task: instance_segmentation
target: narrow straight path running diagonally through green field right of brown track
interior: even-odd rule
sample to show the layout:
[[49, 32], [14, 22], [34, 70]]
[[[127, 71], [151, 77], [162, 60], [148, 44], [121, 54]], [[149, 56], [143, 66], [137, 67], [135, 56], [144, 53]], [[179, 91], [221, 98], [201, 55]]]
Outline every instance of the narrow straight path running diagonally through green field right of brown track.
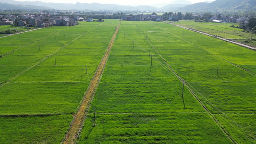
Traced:
[[[135, 25], [136, 26], [136, 25]], [[137, 27], [137, 26], [136, 26]], [[159, 27], [158, 27], [159, 28]], [[145, 36], [140, 29], [137, 27], [137, 29], [139, 30], [139, 32]], [[161, 29], [161, 28], [160, 28]], [[165, 31], [165, 30], [164, 30]], [[168, 32], [170, 33], [170, 32]], [[170, 33], [171, 34], [171, 33]], [[173, 35], [173, 34], [172, 34]], [[176, 36], [176, 35], [173, 35]], [[178, 37], [178, 36], [177, 36]], [[163, 56], [158, 52], [158, 50], [154, 47], [154, 45], [148, 40], [146, 39], [147, 42], [152, 46], [152, 48], [155, 49], [155, 51], [158, 53], [158, 55], [161, 57], [161, 59], [167, 64], [167, 66], [171, 69], [171, 71], [177, 76], [177, 78], [184, 83], [184, 85], [187, 87], [187, 89], [191, 92], [191, 94], [193, 94], [193, 96], [195, 97], [195, 99], [201, 104], [201, 106], [207, 111], [207, 113], [209, 114], [209, 116], [216, 122], [216, 124], [219, 126], [219, 128], [222, 130], [222, 132], [224, 132], [227, 137], [234, 143], [236, 144], [236, 142], [232, 139], [231, 135], [225, 130], [225, 128], [218, 122], [218, 120], [216, 119], [216, 117], [207, 109], [207, 107], [204, 105], [204, 103], [196, 96], [195, 92], [189, 87], [188, 84], [186, 84], [184, 82], [184, 79], [182, 77], [180, 77], [169, 65], [169, 63], [163, 58]]]

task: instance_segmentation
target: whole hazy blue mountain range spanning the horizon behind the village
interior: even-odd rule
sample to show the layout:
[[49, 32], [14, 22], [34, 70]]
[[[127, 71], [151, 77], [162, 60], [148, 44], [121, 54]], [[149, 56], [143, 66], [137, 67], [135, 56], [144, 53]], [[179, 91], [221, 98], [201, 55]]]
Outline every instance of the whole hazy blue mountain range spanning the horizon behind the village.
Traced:
[[[152, 6], [127, 6], [100, 3], [53, 3], [41, 1], [1, 0], [2, 9], [62, 9], [62, 10], [106, 10], [106, 11], [165, 11], [165, 12], [211, 12], [232, 13], [256, 11], [256, 0], [215, 0], [211, 3], [199, 2], [191, 4], [187, 0], [176, 0], [159, 9]], [[8, 3], [8, 4], [7, 4]]]

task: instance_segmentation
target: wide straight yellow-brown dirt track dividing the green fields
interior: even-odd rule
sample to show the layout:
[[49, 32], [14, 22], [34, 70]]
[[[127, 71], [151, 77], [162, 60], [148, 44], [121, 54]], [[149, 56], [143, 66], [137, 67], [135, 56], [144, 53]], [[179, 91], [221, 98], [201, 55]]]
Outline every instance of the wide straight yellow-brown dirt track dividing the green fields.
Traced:
[[107, 63], [109, 55], [110, 55], [111, 48], [114, 44], [114, 41], [115, 41], [115, 38], [116, 38], [116, 35], [119, 30], [119, 26], [120, 26], [121, 22], [122, 21], [120, 21], [120, 23], [118, 24], [118, 26], [110, 40], [108, 48], [107, 48], [105, 54], [103, 55], [102, 60], [100, 61], [99, 65], [98, 65], [95, 75], [93, 76], [91, 83], [86, 90], [84, 99], [80, 105], [80, 108], [78, 109], [77, 114], [74, 116], [74, 119], [71, 123], [71, 127], [70, 127], [69, 131], [65, 135], [63, 144], [73, 144], [77, 140], [78, 134], [81, 132], [81, 129], [82, 129], [82, 126], [83, 126], [83, 123], [85, 120], [85, 116], [87, 114], [86, 108], [90, 107], [90, 103], [95, 95], [96, 89], [98, 87], [98, 83], [99, 83], [101, 76], [103, 74], [103, 71], [105, 69], [106, 63]]

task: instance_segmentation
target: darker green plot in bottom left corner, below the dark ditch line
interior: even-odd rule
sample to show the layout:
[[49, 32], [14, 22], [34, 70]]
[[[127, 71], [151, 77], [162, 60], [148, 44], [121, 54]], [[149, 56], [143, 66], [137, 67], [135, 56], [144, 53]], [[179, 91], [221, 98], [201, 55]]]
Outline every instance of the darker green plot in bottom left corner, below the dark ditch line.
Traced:
[[0, 117], [0, 144], [60, 144], [72, 115]]

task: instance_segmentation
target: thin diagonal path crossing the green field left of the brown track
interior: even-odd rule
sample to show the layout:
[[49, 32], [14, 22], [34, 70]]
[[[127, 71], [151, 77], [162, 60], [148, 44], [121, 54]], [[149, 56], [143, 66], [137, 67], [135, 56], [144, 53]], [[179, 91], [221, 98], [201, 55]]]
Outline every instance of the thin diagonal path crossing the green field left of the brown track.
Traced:
[[[90, 30], [89, 30], [89, 31], [90, 31]], [[89, 31], [88, 31], [88, 32], [89, 32]], [[62, 46], [61, 48], [55, 50], [53, 53], [49, 54], [48, 56], [46, 56], [46, 57], [43, 58], [42, 60], [39, 60], [36, 64], [34, 64], [34, 65], [32, 65], [32, 66], [26, 68], [26, 69], [25, 69], [24, 71], [22, 71], [22, 72], [19, 72], [18, 74], [16, 74], [16, 75], [13, 76], [12, 78], [10, 78], [8, 81], [6, 81], [6, 82], [0, 84], [0, 88], [1, 88], [3, 85], [5, 85], [5, 84], [10, 83], [13, 79], [15, 79], [15, 78], [18, 77], [19, 75], [23, 74], [24, 72], [27, 72], [28, 70], [34, 68], [35, 66], [37, 66], [37, 65], [38, 65], [39, 63], [41, 63], [42, 61], [46, 60], [46, 59], [49, 58], [50, 56], [52, 56], [52, 55], [54, 55], [55, 53], [57, 53], [58, 51], [60, 51], [62, 48], [65, 48], [66, 46], [68, 46], [69, 44], [71, 44], [73, 41], [75, 41], [76, 39], [78, 39], [78, 38], [80, 38], [81, 36], [84, 36], [84, 35], [85, 35], [85, 34], [82, 34], [82, 35], [76, 37], [75, 39], [73, 39], [72, 41], [66, 43], [66, 44], [65, 44], [64, 46]]]

